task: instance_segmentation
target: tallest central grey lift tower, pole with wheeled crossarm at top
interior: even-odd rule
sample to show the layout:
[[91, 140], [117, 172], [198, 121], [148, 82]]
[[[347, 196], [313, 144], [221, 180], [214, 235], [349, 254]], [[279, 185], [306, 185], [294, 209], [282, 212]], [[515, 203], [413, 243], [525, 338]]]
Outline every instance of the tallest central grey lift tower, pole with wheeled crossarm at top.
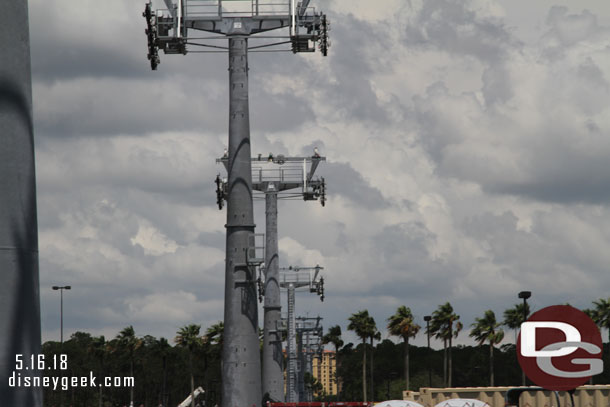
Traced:
[[[292, 52], [313, 52], [317, 44], [327, 54], [326, 15], [309, 7], [309, 0], [164, 0], [166, 10], [146, 4], [148, 59], [154, 70], [158, 50], [166, 54], [187, 52], [229, 53], [229, 148], [227, 239], [225, 269], [224, 346], [222, 350], [223, 407], [253, 407], [261, 404], [260, 358], [256, 283], [251, 253], [254, 246], [254, 216], [250, 161], [248, 106], [248, 49], [282, 47]], [[288, 35], [256, 34], [285, 28]], [[215, 34], [192, 36], [192, 30]], [[202, 41], [229, 39], [228, 47]], [[249, 39], [263, 43], [248, 47]], [[283, 41], [276, 41], [281, 39]], [[272, 42], [276, 41], [276, 42]], [[191, 51], [187, 46], [209, 48]], [[200, 48], [200, 49], [201, 49]], [[257, 49], [255, 49], [257, 48]]]

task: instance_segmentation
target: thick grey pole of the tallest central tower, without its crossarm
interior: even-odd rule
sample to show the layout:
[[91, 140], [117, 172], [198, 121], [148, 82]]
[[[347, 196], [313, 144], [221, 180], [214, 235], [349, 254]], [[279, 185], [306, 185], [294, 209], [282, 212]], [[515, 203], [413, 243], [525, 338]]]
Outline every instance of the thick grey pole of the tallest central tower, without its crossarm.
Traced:
[[256, 278], [248, 248], [254, 240], [248, 40], [229, 38], [229, 163], [225, 270], [222, 406], [261, 405]]

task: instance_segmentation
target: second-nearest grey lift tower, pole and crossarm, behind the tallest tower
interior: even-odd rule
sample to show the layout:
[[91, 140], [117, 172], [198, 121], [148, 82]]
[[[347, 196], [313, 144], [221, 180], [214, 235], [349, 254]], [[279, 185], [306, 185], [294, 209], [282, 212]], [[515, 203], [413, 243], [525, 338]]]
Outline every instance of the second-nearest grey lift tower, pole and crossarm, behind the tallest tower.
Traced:
[[[277, 200], [303, 199], [319, 200], [326, 203], [326, 182], [315, 178], [314, 174], [321, 161], [317, 148], [311, 157], [285, 157], [284, 155], [259, 155], [252, 158], [252, 189], [265, 196], [265, 257], [263, 323], [263, 397], [274, 401], [284, 401], [284, 369], [282, 366], [282, 338], [276, 327], [280, 320], [281, 303], [279, 287], [279, 254], [277, 232]], [[216, 160], [228, 167], [227, 157]], [[222, 209], [226, 198], [227, 183], [220, 176], [216, 178], [218, 207]], [[262, 297], [262, 296], [261, 296]]]

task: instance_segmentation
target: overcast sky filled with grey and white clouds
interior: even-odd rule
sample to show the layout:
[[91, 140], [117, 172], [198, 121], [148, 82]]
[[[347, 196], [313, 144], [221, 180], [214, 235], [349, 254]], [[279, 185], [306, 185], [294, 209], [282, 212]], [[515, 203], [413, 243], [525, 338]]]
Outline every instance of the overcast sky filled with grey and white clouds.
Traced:
[[[58, 284], [65, 336], [223, 317], [227, 55], [161, 53], [152, 72], [144, 3], [29, 1], [44, 341]], [[400, 305], [424, 325], [450, 301], [469, 328], [521, 290], [534, 309], [606, 298], [610, 2], [314, 3], [327, 58], [249, 64], [252, 153], [328, 160], [326, 207], [279, 205], [280, 265], [325, 267], [325, 302], [299, 294], [299, 314], [346, 333], [368, 309], [387, 337]]]

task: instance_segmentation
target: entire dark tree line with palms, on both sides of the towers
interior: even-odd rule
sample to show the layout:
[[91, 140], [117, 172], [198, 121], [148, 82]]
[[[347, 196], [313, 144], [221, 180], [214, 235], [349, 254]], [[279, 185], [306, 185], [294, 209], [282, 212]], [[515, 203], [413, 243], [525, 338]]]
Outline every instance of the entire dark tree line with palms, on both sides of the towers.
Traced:
[[[402, 398], [405, 389], [421, 387], [518, 386], [521, 369], [514, 343], [497, 346], [504, 337], [502, 327], [516, 330], [524, 320], [524, 305], [517, 304], [504, 311], [498, 321], [487, 310], [470, 326], [469, 336], [478, 346], [454, 346], [453, 341], [464, 330], [460, 316], [449, 302], [439, 305], [422, 328], [411, 309], [400, 306], [386, 320], [385, 328], [401, 343], [381, 341], [381, 332], [367, 310], [348, 318], [348, 330], [360, 338], [360, 343], [345, 344], [340, 326], [333, 326], [323, 342], [331, 345], [336, 355], [338, 395], [324, 394], [320, 383], [308, 378], [307, 385], [318, 394], [320, 401], [379, 401]], [[525, 314], [529, 314], [529, 309]], [[593, 302], [583, 310], [600, 329], [610, 329], [610, 298]], [[428, 326], [429, 329], [426, 329]], [[168, 340], [151, 335], [137, 336], [133, 327], [121, 330], [116, 337], [92, 336], [75, 332], [63, 344], [48, 341], [43, 344], [45, 360], [53, 355], [68, 357], [66, 370], [49, 370], [53, 377], [83, 377], [93, 372], [102, 377], [133, 377], [134, 387], [70, 387], [44, 389], [44, 405], [73, 407], [175, 406], [201, 386], [208, 406], [220, 405], [221, 350], [223, 324], [218, 322], [205, 330], [200, 325], [186, 325]], [[441, 341], [442, 349], [413, 346], [409, 342], [417, 335]], [[610, 332], [608, 342], [610, 342]], [[261, 337], [262, 343], [262, 337]], [[608, 354], [610, 345], [604, 345]], [[606, 363], [610, 363], [607, 361]], [[284, 365], [286, 365], [284, 363]], [[494, 368], [495, 367], [495, 368]], [[610, 370], [595, 376], [596, 383], [609, 383]]]

